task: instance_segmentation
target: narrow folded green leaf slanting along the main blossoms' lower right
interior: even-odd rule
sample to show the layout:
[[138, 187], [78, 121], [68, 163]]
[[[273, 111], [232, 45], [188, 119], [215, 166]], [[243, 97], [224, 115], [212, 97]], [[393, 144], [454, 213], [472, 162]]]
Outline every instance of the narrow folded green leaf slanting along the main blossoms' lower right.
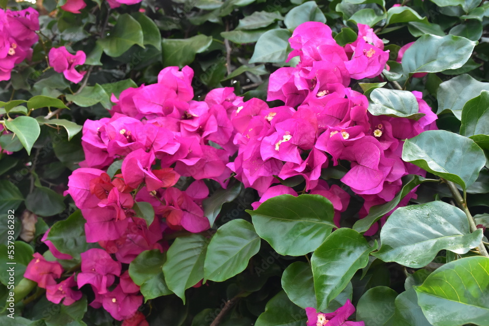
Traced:
[[369, 210], [369, 214], [355, 222], [353, 229], [357, 232], [366, 232], [372, 224], [378, 221], [378, 219], [385, 214], [392, 211], [399, 204], [402, 198], [404, 198], [411, 190], [413, 190], [419, 184], [425, 181], [433, 181], [432, 179], [425, 179], [419, 175], [406, 176], [407, 180], [403, 182], [400, 192], [389, 202], [382, 205], [372, 206]]

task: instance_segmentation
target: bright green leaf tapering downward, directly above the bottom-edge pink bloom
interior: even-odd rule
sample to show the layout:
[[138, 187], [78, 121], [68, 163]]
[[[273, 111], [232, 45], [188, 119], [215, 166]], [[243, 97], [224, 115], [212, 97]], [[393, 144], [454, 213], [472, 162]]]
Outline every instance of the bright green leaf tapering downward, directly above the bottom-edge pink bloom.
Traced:
[[311, 266], [319, 311], [348, 285], [358, 269], [367, 266], [369, 254], [377, 247], [377, 241], [371, 247], [355, 230], [341, 228], [314, 251]]

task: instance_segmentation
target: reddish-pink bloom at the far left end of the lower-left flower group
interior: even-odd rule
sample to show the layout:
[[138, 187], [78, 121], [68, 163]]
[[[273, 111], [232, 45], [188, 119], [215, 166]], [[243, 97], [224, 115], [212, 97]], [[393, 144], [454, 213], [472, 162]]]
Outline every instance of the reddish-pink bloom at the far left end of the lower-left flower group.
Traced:
[[44, 289], [48, 285], [56, 284], [54, 279], [60, 278], [63, 273], [61, 264], [57, 261], [46, 261], [38, 252], [32, 256], [34, 259], [27, 265], [24, 277], [37, 282], [37, 285]]

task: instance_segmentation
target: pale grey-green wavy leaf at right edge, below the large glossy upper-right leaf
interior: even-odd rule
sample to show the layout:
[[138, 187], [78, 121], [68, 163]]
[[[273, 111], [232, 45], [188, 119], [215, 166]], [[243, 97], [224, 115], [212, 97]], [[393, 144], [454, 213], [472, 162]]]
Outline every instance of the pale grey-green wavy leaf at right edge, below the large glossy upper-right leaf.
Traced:
[[436, 114], [452, 111], [460, 120], [462, 109], [468, 100], [479, 96], [482, 90], [489, 90], [489, 83], [482, 83], [469, 75], [460, 75], [440, 84], [437, 92], [438, 111]]

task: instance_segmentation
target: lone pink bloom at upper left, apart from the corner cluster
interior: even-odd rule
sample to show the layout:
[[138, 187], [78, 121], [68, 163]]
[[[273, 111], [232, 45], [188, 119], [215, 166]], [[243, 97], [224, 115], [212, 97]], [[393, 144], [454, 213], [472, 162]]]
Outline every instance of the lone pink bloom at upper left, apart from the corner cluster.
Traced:
[[83, 51], [77, 51], [76, 54], [68, 52], [65, 46], [51, 48], [49, 50], [49, 65], [56, 72], [62, 72], [65, 78], [73, 83], [80, 83], [86, 71], [81, 73], [75, 70], [76, 65], [83, 65], [87, 56]]

